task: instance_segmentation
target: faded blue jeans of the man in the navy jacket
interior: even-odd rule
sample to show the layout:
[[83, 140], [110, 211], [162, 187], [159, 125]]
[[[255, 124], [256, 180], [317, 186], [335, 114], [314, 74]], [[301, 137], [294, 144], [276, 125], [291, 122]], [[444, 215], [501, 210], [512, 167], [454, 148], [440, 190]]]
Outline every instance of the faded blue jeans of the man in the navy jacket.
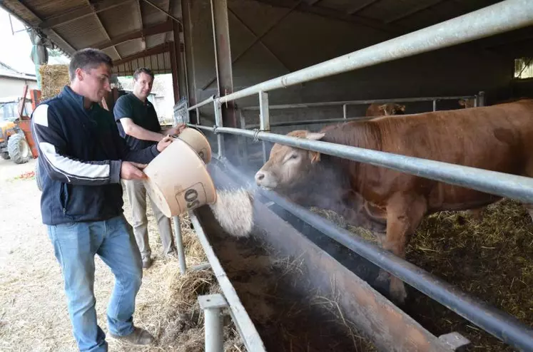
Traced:
[[48, 227], [56, 259], [65, 280], [73, 335], [80, 351], [107, 351], [106, 334], [96, 321], [94, 255], [98, 254], [115, 276], [107, 308], [109, 332], [133, 332], [135, 297], [143, 277], [141, 253], [133, 229], [123, 216], [100, 222], [71, 222]]

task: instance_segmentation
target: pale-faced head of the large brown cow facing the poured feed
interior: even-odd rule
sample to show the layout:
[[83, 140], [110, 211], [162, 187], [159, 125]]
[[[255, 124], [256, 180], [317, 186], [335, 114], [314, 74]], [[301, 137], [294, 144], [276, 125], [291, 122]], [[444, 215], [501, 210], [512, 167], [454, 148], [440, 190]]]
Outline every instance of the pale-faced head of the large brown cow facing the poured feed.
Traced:
[[[320, 140], [324, 137], [324, 133], [307, 130], [295, 130], [288, 135], [310, 140]], [[276, 143], [270, 150], [268, 161], [255, 174], [255, 182], [258, 186], [270, 190], [290, 189], [305, 182], [305, 176], [319, 161], [319, 152]]]

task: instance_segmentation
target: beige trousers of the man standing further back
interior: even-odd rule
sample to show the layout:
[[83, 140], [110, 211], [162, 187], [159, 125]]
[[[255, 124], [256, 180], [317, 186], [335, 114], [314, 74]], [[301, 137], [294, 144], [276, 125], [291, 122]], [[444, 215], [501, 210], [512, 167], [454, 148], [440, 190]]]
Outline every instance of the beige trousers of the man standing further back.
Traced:
[[[139, 250], [141, 251], [141, 257], [150, 257], [152, 250], [150, 244], [148, 244], [148, 219], [146, 217], [146, 188], [142, 181], [138, 180], [123, 180], [126, 185], [126, 193], [128, 194], [128, 200], [131, 204], [133, 212], [133, 234]], [[149, 197], [149, 195], [148, 195]], [[176, 250], [174, 245], [174, 237], [172, 234], [171, 219], [165, 216], [161, 210], [151, 200], [153, 215], [156, 217], [159, 236], [161, 237], [161, 243], [163, 244], [163, 255], [169, 254]]]

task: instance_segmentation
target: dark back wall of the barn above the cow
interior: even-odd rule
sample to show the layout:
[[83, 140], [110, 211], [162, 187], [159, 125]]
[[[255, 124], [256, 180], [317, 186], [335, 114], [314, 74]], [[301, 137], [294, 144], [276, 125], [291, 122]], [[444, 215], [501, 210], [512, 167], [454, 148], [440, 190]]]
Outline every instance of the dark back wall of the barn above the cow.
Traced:
[[[254, 41], [253, 34], [233, 14], [259, 35], [278, 21], [288, 9], [280, 9], [253, 0], [228, 0], [230, 9], [230, 42], [233, 58], [240, 56]], [[233, 12], [233, 13], [232, 13]], [[193, 55], [196, 66], [197, 101], [216, 93], [213, 28], [210, 2], [193, 1]], [[325, 19], [314, 14], [291, 12], [262, 40], [279, 59], [260, 43], [233, 63], [235, 90], [281, 76], [289, 71], [350, 53], [387, 38], [385, 33], [352, 23]], [[473, 95], [487, 92], [487, 102], [507, 98], [512, 78], [512, 61], [494, 53], [479, 51], [472, 45], [456, 46], [425, 53], [390, 63], [382, 63], [350, 73], [324, 78], [303, 85], [269, 93], [270, 103], [302, 103], [312, 101], [355, 100], [371, 98], [403, 98], [428, 95]], [[203, 89], [202, 89], [203, 88]], [[244, 98], [240, 106], [258, 105], [257, 99]], [[440, 104], [456, 108], [456, 102]], [[431, 105], [408, 105], [408, 112], [430, 110]], [[350, 108], [350, 116], [364, 115], [365, 107]], [[203, 114], [210, 115], [210, 108]], [[272, 112], [272, 120], [340, 117], [342, 110], [314, 109]], [[250, 114], [248, 114], [250, 115]], [[248, 117], [254, 123], [255, 117]], [[333, 116], [335, 115], [335, 116]]]

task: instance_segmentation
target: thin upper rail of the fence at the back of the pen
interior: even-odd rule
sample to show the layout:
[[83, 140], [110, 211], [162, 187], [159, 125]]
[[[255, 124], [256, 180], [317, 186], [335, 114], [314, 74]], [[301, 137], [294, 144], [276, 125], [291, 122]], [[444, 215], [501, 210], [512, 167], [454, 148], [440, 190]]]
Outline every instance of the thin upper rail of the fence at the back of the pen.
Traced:
[[[339, 105], [365, 105], [372, 103], [417, 103], [433, 100], [459, 100], [475, 99], [476, 95], [457, 95], [447, 97], [421, 97], [421, 98], [397, 98], [397, 99], [369, 99], [369, 100], [341, 100], [341, 101], [322, 101], [319, 103], [297, 103], [297, 104], [279, 104], [269, 105], [270, 110], [283, 110], [293, 108], [315, 108], [320, 106], [339, 106]], [[240, 108], [243, 111], [259, 110], [259, 106], [245, 106]]]

